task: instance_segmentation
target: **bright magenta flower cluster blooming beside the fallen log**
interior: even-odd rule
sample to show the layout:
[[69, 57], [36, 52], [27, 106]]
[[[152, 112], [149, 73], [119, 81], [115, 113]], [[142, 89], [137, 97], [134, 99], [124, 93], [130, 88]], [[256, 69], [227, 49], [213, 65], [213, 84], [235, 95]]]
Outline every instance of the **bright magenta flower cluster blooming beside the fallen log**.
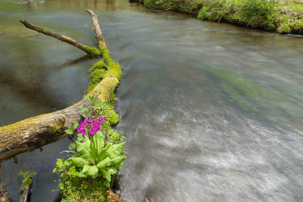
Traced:
[[85, 134], [88, 134], [88, 137], [90, 137], [95, 135], [95, 131], [101, 129], [99, 124], [101, 122], [104, 122], [104, 118], [102, 116], [98, 118], [96, 116], [85, 118], [84, 121], [79, 124], [77, 131], [82, 133], [82, 137], [84, 137]]

